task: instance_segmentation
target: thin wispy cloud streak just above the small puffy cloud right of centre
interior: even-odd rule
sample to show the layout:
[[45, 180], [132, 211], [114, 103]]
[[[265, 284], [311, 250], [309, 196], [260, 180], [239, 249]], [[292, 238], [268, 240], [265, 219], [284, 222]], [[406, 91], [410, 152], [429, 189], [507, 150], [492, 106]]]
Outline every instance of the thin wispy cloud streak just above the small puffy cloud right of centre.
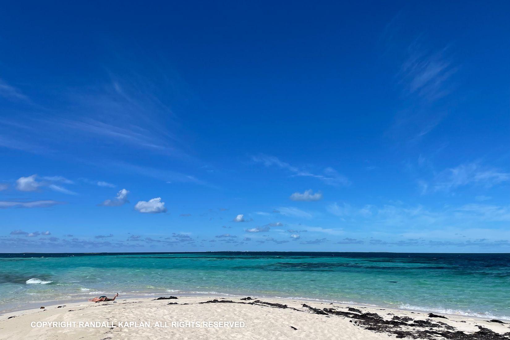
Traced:
[[266, 167], [275, 166], [280, 169], [288, 170], [292, 173], [292, 177], [312, 177], [323, 181], [327, 185], [331, 186], [348, 186], [350, 181], [347, 177], [340, 174], [338, 171], [331, 167], [326, 167], [322, 173], [312, 173], [310, 171], [295, 167], [289, 163], [279, 160], [275, 156], [266, 155], [260, 153], [258, 155], [251, 156], [251, 161], [256, 163], [262, 163]]

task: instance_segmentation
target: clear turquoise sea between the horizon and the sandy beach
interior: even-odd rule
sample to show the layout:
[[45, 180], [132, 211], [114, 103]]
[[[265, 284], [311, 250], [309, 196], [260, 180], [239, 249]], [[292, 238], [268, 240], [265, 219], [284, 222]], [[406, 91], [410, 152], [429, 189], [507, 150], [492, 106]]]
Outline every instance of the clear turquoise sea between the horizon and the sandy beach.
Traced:
[[510, 320], [510, 254], [0, 254], [0, 311], [112, 292], [353, 301]]

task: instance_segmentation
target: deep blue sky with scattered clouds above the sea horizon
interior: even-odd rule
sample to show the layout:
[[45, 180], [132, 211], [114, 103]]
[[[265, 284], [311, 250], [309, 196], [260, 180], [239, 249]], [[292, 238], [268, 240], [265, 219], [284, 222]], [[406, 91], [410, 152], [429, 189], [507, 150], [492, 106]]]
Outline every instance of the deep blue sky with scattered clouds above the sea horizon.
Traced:
[[508, 10], [6, 4], [0, 248], [508, 252]]

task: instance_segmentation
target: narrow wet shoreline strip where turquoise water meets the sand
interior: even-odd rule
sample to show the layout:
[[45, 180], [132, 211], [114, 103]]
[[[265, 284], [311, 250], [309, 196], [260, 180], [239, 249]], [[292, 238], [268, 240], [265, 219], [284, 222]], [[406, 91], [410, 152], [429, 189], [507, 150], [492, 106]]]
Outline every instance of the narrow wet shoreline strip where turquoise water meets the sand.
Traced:
[[[243, 297], [253, 297], [258, 299], [278, 299], [278, 300], [295, 300], [295, 301], [304, 301], [304, 302], [316, 302], [316, 303], [334, 303], [334, 304], [342, 304], [342, 305], [350, 305], [350, 306], [356, 306], [356, 307], [366, 307], [366, 308], [387, 308], [392, 310], [398, 310], [402, 312], [415, 312], [415, 313], [441, 313], [441, 315], [450, 316], [450, 317], [461, 317], [461, 318], [470, 318], [473, 320], [480, 320], [480, 321], [487, 321], [487, 320], [500, 320], [505, 323], [510, 324], [509, 319], [502, 318], [500, 316], [488, 316], [488, 317], [481, 317], [476, 315], [466, 315], [466, 314], [460, 314], [460, 313], [448, 313], [439, 311], [438, 309], [423, 307], [422, 309], [413, 309], [413, 308], [401, 308], [401, 307], [393, 307], [393, 306], [384, 306], [384, 305], [375, 305], [375, 304], [368, 304], [368, 303], [362, 303], [362, 302], [355, 302], [355, 301], [338, 301], [338, 300], [327, 300], [327, 299], [315, 299], [315, 298], [305, 298], [305, 297], [280, 297], [280, 296], [267, 296], [267, 295], [257, 295], [257, 294], [226, 294], [226, 293], [214, 293], [214, 294], [207, 294], [207, 293], [180, 293], [180, 292], [167, 292], [166, 294], [160, 294], [160, 293], [148, 293], [147, 295], [129, 295], [125, 294], [122, 296], [122, 300], [135, 300], [135, 299], [152, 299], [154, 297], [159, 296], [166, 296], [166, 295], [178, 295], [181, 297], [232, 297], [232, 298], [243, 298]], [[40, 307], [35, 307], [37, 305], [48, 305], [49, 307], [52, 306], [58, 306], [62, 304], [81, 304], [81, 303], [88, 303], [89, 301], [86, 300], [87, 298], [83, 299], [70, 299], [70, 300], [48, 300], [48, 301], [42, 301], [42, 302], [33, 302], [30, 303], [31, 307], [28, 308], [21, 308], [21, 309], [15, 309], [15, 310], [9, 310], [6, 312], [0, 313], [0, 318], [6, 316], [6, 315], [15, 315], [15, 313], [24, 312], [24, 311], [30, 311], [30, 310], [39, 310]], [[473, 313], [474, 314], [474, 313]], [[479, 313], [477, 313], [479, 314]]]

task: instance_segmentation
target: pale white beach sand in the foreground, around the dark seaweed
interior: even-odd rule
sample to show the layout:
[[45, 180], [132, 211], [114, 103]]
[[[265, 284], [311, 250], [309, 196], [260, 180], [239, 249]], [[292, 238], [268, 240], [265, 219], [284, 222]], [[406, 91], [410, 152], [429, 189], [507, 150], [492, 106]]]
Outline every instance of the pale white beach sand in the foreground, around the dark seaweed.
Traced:
[[[407, 335], [416, 335], [423, 330], [461, 331], [468, 335], [471, 334], [470, 339], [507, 338], [507, 335], [510, 334], [500, 335], [510, 332], [510, 324], [451, 315], [445, 315], [447, 319], [429, 318], [428, 313], [418, 311], [291, 299], [253, 298], [253, 300], [241, 300], [242, 297], [232, 296], [177, 297], [178, 299], [171, 300], [122, 299], [119, 297], [113, 302], [84, 301], [68, 303], [60, 305], [60, 307], [53, 305], [44, 306], [43, 309], [10, 312], [0, 316], [0, 339], [371, 340], [396, 338], [397, 334], [393, 330], [411, 332]], [[200, 303], [214, 300], [235, 303]], [[288, 307], [281, 308], [282, 306], [270, 304], [282, 304]], [[303, 304], [307, 306], [303, 306]], [[354, 309], [349, 311], [349, 307]], [[317, 311], [324, 313], [324, 308], [328, 311], [327, 315], [316, 313]], [[335, 315], [335, 311], [341, 315]], [[369, 316], [372, 321], [379, 320], [373, 319], [374, 315], [365, 314], [367, 312], [377, 313], [382, 317], [380, 320], [386, 321], [395, 316], [409, 317], [413, 319], [413, 321], [407, 320], [410, 325], [416, 324], [414, 320], [418, 323], [423, 320], [425, 326], [390, 326], [393, 333], [381, 331], [377, 329], [377, 326], [370, 324], [370, 321], [363, 320], [361, 315]], [[222, 321], [230, 323], [214, 324], [214, 322]], [[42, 322], [61, 324], [53, 324], [50, 327], [47, 324], [43, 326]], [[186, 322], [187, 324], [185, 324]], [[444, 324], [439, 324], [439, 322]], [[427, 324], [428, 326], [426, 326]], [[407, 336], [407, 338], [410, 337]], [[436, 338], [442, 338], [442, 336]]]

